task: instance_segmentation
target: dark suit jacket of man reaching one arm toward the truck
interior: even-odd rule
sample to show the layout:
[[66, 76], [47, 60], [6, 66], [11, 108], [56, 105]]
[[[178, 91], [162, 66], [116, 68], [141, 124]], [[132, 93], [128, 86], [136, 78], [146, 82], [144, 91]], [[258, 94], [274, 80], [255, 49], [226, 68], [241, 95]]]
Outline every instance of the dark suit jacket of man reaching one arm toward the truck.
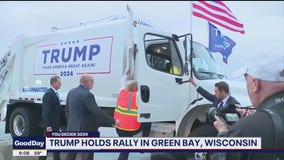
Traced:
[[[200, 86], [197, 88], [197, 92], [201, 94], [204, 98], [206, 98], [208, 101], [213, 102], [213, 107], [217, 107], [217, 105], [221, 102], [221, 99], [217, 99], [215, 95], [209, 93]], [[240, 103], [234, 97], [230, 96], [226, 104], [223, 105], [228, 105], [228, 104], [240, 104]]]

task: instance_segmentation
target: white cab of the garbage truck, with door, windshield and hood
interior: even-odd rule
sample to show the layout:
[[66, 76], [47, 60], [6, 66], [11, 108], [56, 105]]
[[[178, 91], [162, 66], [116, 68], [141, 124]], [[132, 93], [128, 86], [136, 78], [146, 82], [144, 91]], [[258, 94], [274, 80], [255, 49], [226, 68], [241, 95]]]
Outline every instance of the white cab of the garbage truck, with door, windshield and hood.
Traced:
[[[139, 30], [140, 31], [140, 30]], [[159, 34], [157, 34], [159, 33]], [[185, 83], [193, 77], [209, 92], [214, 84], [226, 81], [235, 98], [249, 105], [245, 85], [228, 80], [218, 68], [204, 45], [194, 42], [191, 34], [171, 35], [153, 30], [138, 32], [144, 44], [137, 48], [135, 69], [140, 86], [139, 120], [174, 124], [175, 136], [190, 136], [195, 128], [207, 124], [212, 103], [199, 95], [196, 88]], [[144, 52], [140, 52], [140, 51]]]

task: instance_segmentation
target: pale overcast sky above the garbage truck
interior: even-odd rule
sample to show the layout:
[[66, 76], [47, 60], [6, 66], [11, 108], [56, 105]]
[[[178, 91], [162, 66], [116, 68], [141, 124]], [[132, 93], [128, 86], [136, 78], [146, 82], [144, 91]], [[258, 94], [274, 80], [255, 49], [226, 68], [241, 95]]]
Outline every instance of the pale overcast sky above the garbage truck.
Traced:
[[[284, 55], [284, 2], [224, 3], [244, 24], [246, 32], [240, 34], [215, 25], [223, 35], [236, 42], [227, 65], [222, 62], [220, 53], [214, 53], [215, 60], [226, 73], [238, 70], [260, 54]], [[127, 16], [127, 4], [135, 17], [143, 17], [153, 26], [175, 34], [192, 31], [195, 41], [208, 46], [208, 23], [197, 17], [191, 18], [189, 1], [1, 1], [0, 58], [18, 34], [40, 34], [50, 32], [51, 27], [63, 28], [112, 15]]]

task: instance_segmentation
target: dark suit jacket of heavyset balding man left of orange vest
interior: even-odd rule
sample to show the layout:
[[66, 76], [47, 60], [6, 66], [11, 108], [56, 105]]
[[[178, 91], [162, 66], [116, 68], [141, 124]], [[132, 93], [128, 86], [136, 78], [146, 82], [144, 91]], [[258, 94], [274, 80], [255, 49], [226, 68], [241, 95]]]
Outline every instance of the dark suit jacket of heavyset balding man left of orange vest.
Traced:
[[102, 111], [94, 95], [79, 85], [69, 91], [66, 101], [67, 131], [97, 131], [98, 122], [114, 125], [115, 120]]

